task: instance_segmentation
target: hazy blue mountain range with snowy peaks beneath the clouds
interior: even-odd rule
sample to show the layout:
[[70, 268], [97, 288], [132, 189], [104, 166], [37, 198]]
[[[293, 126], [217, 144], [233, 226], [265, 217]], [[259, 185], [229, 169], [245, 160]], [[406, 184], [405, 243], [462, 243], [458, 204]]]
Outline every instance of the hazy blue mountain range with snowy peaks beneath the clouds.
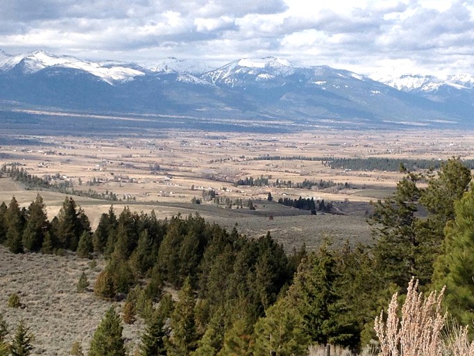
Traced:
[[[474, 76], [371, 76], [283, 58], [212, 69], [167, 58], [141, 66], [0, 51], [0, 103], [100, 114], [286, 122], [299, 127], [474, 127]], [[0, 117], [1, 120], [1, 117]]]

